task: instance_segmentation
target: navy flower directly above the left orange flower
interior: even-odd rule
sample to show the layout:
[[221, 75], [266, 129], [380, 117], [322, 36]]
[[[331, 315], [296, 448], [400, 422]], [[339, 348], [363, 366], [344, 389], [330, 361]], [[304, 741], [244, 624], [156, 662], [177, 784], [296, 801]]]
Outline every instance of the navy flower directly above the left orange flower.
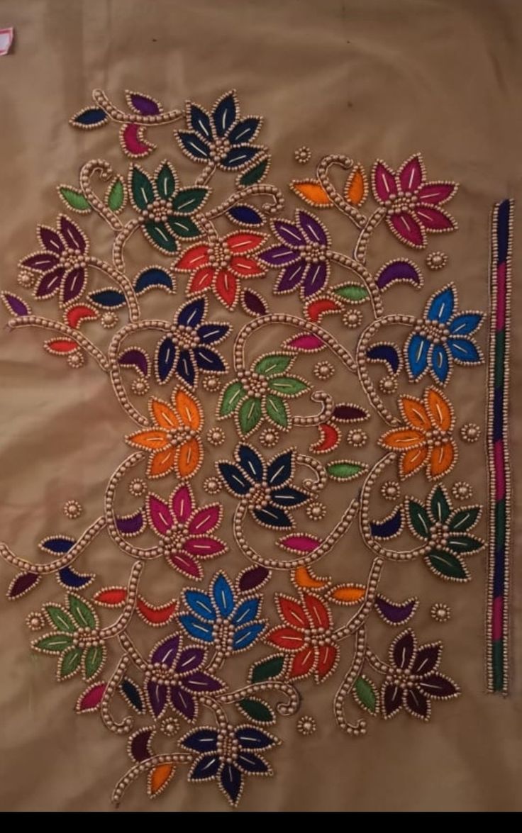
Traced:
[[196, 387], [199, 371], [227, 372], [223, 357], [208, 345], [222, 342], [228, 336], [230, 327], [220, 322], [205, 323], [206, 311], [204, 298], [185, 304], [178, 312], [176, 323], [158, 342], [154, 371], [160, 385], [167, 384], [176, 375], [189, 387]]

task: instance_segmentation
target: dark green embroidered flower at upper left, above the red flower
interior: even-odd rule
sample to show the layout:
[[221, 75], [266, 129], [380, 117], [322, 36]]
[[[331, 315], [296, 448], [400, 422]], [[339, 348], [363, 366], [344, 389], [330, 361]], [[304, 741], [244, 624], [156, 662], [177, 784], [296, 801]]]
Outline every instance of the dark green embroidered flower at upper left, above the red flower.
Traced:
[[170, 162], [161, 163], [153, 180], [141, 167], [133, 165], [129, 172], [129, 192], [140, 215], [143, 234], [161, 252], [177, 252], [176, 238], [192, 240], [201, 236], [202, 231], [192, 215], [206, 202], [208, 188], [179, 188]]

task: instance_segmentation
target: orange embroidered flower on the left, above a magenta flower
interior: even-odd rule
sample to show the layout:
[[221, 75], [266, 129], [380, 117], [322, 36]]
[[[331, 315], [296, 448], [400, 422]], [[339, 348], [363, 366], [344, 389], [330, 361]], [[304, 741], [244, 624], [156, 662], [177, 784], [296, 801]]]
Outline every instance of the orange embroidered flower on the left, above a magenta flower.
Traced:
[[151, 451], [147, 474], [163, 477], [171, 471], [182, 478], [198, 471], [203, 457], [199, 438], [203, 412], [198, 400], [178, 388], [173, 391], [172, 406], [161, 399], [151, 399], [148, 409], [153, 426], [126, 437], [129, 445]]

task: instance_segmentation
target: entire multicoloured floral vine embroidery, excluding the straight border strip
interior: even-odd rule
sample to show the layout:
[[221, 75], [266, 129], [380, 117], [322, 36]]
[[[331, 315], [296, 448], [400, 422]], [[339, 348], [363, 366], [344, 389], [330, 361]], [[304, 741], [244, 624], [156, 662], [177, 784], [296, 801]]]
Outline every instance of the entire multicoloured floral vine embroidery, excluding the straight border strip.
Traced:
[[[409, 624], [419, 598], [390, 599], [380, 587], [413, 561], [427, 566], [427, 581], [464, 584], [469, 556], [485, 546], [474, 530], [483, 507], [469, 503], [464, 481], [448, 481], [462, 428], [449, 383], [484, 362], [475, 341], [484, 315], [460, 309], [452, 282], [436, 282], [444, 252], [432, 258], [429, 297], [411, 257], [369, 270], [370, 241], [391, 232], [411, 255], [457, 228], [445, 208], [456, 184], [429, 180], [419, 154], [396, 171], [327, 156], [284, 197], [265, 182], [268, 149], [253, 143], [262, 119], [241, 115], [235, 92], [209, 109], [188, 102], [166, 110], [138, 92], [127, 92], [123, 110], [101, 91], [93, 99], [71, 123], [118, 125], [128, 169], [93, 160], [78, 184], [58, 187], [68, 213], [38, 227], [38, 252], [20, 262], [24, 297], [4, 292], [3, 302], [13, 330], [46, 332], [45, 350], [71, 369], [98, 365], [129, 429], [100, 516], [82, 536], [50, 533], [38, 563], [0, 545], [17, 571], [8, 598], [58, 579], [63, 602], [28, 616], [31, 630], [44, 631], [33, 650], [57, 662], [78, 713], [98, 714], [127, 737], [131, 766], [113, 801], [141, 776], [156, 797], [184, 772], [194, 784], [215, 781], [236, 806], [249, 776], [273, 775], [276, 724], [298, 713], [304, 678], [321, 685], [336, 676], [334, 720], [353, 737], [371, 717], [405, 711], [428, 721], [439, 701], [459, 696], [439, 671], [442, 643], [419, 644]], [[150, 167], [155, 129], [174, 123], [168, 159]], [[193, 162], [192, 182], [181, 182], [176, 147]], [[296, 160], [309, 162], [306, 148]], [[228, 197], [215, 197], [217, 182]], [[364, 212], [370, 195], [374, 207]], [[110, 259], [93, 253], [70, 212], [108, 226]], [[354, 231], [349, 252], [327, 227], [333, 212], [345, 223], [341, 249]], [[156, 261], [137, 274], [127, 265], [133, 242]], [[418, 317], [385, 309], [398, 284], [419, 294]], [[154, 295], [162, 318], [143, 314]], [[281, 296], [292, 312], [281, 311]], [[329, 322], [336, 332], [345, 325], [341, 341]], [[109, 343], [99, 325], [117, 328]], [[267, 328], [270, 351], [260, 353]], [[343, 374], [349, 401], [329, 393], [334, 373]], [[213, 410], [203, 410], [202, 388]], [[369, 444], [363, 428], [371, 426], [379, 441]], [[217, 459], [211, 446], [225, 436], [234, 438], [233, 458]], [[349, 457], [339, 452], [345, 441]], [[223, 497], [202, 501], [202, 489]], [[341, 497], [339, 517], [329, 490], [338, 505]], [[122, 511], [129, 493], [130, 513]], [[218, 536], [226, 525], [245, 562], [238, 575]], [[350, 546], [368, 556], [364, 575], [350, 575], [349, 562], [344, 575], [325, 574], [349, 533]], [[105, 586], [103, 576], [78, 569], [101, 535], [129, 565], [126, 585]], [[165, 586], [177, 588], [163, 601], [143, 590], [155, 560], [165, 564]], [[276, 574], [286, 592], [272, 589]], [[434, 607], [436, 620], [449, 619], [448, 606]], [[370, 617], [399, 633], [370, 644]], [[155, 644], [143, 623], [159, 629]], [[246, 651], [247, 679], [232, 688], [229, 669]], [[301, 713], [299, 732], [315, 726]]]

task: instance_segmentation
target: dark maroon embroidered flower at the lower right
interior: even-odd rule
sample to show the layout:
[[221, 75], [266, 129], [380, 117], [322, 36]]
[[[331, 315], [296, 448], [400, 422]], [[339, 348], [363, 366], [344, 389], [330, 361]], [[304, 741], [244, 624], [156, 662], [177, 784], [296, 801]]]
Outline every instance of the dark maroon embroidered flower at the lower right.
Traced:
[[389, 646], [389, 671], [381, 689], [384, 717], [404, 708], [410, 715], [429, 721], [430, 700], [449, 700], [460, 694], [453, 680], [435, 673], [442, 645], [432, 642], [417, 647], [413, 631], [399, 634]]

